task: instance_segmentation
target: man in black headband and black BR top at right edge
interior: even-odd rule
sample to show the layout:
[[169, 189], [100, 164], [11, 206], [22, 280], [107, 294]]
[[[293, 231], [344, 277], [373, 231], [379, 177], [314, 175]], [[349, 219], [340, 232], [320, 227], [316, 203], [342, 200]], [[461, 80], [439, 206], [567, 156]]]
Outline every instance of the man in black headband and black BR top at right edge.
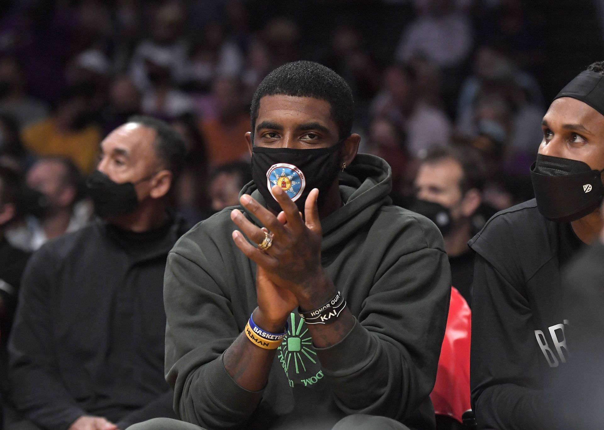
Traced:
[[531, 168], [535, 200], [491, 218], [476, 252], [472, 402], [479, 429], [573, 428], [548, 402], [548, 381], [568, 360], [561, 267], [602, 229], [604, 62], [556, 96]]

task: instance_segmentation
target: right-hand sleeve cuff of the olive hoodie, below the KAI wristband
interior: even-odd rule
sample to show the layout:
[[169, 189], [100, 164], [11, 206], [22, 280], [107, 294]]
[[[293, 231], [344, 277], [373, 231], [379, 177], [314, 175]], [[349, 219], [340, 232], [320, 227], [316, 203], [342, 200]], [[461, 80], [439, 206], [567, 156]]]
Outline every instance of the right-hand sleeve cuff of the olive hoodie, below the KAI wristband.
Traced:
[[377, 351], [377, 340], [358, 321], [337, 344], [328, 348], [315, 348], [326, 376], [342, 377], [367, 366]]

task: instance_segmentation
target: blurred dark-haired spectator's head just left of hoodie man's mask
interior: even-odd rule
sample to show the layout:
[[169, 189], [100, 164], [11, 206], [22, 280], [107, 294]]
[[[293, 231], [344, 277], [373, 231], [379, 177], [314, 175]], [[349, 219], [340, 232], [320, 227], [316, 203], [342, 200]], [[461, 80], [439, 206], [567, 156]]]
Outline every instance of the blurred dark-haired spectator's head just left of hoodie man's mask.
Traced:
[[210, 180], [210, 200], [212, 210], [220, 210], [239, 204], [239, 193], [252, 180], [249, 163], [241, 161], [218, 166]]

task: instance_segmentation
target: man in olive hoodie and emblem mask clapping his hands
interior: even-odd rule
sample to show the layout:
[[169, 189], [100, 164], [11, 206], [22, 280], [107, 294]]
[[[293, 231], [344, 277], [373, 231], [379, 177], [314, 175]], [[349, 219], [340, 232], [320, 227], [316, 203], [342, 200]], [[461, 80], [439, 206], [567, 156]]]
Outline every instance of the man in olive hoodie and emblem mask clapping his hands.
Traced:
[[433, 429], [439, 230], [391, 206], [384, 160], [356, 155], [352, 94], [329, 68], [273, 71], [251, 118], [242, 206], [190, 230], [165, 272], [167, 380], [193, 425], [133, 429]]

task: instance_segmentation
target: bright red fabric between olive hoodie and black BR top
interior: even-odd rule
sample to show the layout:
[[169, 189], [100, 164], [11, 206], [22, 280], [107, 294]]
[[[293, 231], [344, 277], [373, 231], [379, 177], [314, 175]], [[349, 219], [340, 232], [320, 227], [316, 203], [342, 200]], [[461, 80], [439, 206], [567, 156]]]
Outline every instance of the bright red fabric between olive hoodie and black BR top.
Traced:
[[448, 415], [460, 423], [470, 409], [470, 333], [471, 310], [465, 299], [451, 287], [451, 305], [440, 350], [436, 383], [430, 394], [434, 412]]

